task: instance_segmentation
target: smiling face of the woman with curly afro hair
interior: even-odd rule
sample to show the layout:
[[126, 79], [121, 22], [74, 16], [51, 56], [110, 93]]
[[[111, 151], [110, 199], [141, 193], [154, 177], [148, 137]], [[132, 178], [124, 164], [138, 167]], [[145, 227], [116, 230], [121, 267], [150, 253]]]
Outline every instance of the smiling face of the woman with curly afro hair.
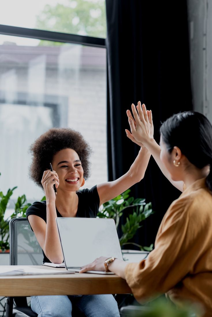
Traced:
[[83, 168], [77, 152], [73, 149], [60, 150], [53, 157], [52, 167], [58, 173], [58, 189], [79, 190], [83, 182]]

